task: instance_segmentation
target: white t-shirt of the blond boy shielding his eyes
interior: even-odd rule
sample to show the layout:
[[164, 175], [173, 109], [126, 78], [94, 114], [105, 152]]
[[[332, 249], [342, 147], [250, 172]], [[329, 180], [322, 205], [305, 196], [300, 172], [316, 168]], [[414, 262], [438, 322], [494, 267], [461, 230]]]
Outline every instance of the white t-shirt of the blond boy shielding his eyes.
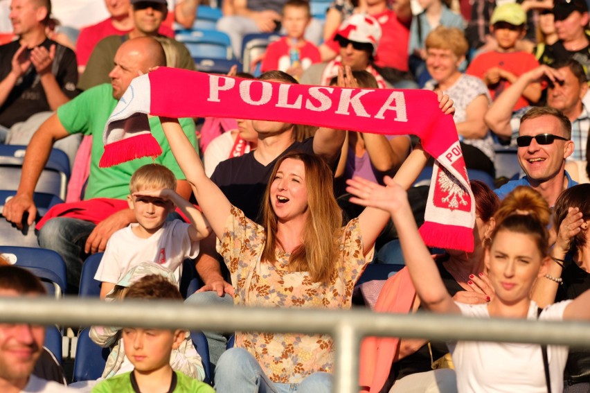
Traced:
[[188, 236], [190, 225], [181, 220], [168, 221], [149, 238], [138, 238], [132, 230], [136, 225], [129, 224], [111, 236], [94, 279], [118, 283], [131, 268], [152, 261], [174, 271], [180, 282], [182, 261], [199, 254], [199, 242], [191, 242]]

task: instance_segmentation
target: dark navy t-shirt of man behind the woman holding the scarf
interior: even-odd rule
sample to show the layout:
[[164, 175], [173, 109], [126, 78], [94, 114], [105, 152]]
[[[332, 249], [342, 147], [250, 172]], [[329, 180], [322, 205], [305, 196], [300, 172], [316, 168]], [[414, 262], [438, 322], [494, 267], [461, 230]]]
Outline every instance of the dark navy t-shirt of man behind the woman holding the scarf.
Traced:
[[229, 202], [242, 210], [247, 218], [260, 222], [262, 198], [274, 165], [280, 157], [293, 150], [314, 154], [314, 139], [294, 142], [266, 166], [256, 161], [253, 151], [241, 157], [226, 159], [217, 165], [211, 180], [217, 184]]

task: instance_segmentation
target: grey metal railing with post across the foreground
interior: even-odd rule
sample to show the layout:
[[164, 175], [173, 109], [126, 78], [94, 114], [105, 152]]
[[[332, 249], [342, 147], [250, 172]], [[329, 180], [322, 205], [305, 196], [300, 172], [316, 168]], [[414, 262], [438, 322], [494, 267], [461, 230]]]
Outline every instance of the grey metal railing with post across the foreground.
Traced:
[[367, 335], [430, 340], [530, 342], [590, 347], [588, 322], [484, 320], [451, 315], [394, 315], [368, 310], [205, 307], [166, 301], [0, 298], [0, 322], [136, 326], [211, 331], [329, 334], [335, 344], [334, 392], [358, 392], [359, 346]]

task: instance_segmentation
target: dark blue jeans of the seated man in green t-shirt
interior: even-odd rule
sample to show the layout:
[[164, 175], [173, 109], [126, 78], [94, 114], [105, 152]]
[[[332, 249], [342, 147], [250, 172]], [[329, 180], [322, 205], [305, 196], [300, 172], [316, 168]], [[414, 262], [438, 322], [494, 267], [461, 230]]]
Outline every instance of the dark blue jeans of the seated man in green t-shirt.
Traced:
[[78, 293], [82, 264], [89, 255], [84, 252], [84, 245], [94, 227], [89, 221], [58, 217], [48, 220], [37, 235], [41, 247], [57, 252], [64, 259], [69, 293]]

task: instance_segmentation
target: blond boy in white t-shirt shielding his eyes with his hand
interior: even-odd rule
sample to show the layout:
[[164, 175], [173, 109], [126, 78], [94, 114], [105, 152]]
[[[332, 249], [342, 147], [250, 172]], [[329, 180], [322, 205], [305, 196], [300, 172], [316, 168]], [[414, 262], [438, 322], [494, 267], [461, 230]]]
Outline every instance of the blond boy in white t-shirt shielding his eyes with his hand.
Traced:
[[[177, 272], [182, 261], [199, 254], [199, 240], [209, 234], [203, 215], [174, 190], [175, 175], [165, 166], [148, 164], [131, 177], [127, 195], [136, 223], [119, 229], [109, 239], [105, 255], [94, 279], [101, 281], [100, 298], [104, 299], [129, 269], [144, 261], [153, 261]], [[166, 221], [178, 207], [190, 220]]]

